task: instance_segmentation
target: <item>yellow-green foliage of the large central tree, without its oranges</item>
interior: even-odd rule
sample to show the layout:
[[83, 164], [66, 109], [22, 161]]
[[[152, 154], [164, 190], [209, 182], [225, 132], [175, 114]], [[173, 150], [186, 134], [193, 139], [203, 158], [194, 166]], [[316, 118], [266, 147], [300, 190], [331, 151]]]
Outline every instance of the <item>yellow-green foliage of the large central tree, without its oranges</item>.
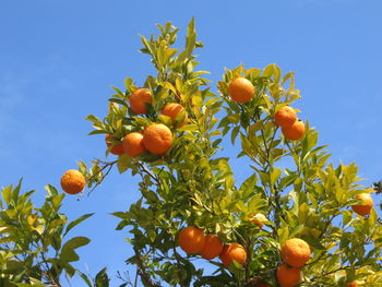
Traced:
[[[299, 286], [344, 286], [355, 279], [363, 286], [381, 285], [382, 227], [377, 213], [363, 218], [349, 210], [359, 203], [355, 195], [369, 192], [359, 184], [357, 166], [330, 164], [326, 146], [318, 145], [318, 132], [309, 121], [300, 141], [286, 140], [274, 123], [280, 107], [300, 98], [294, 73], [283, 74], [276, 64], [226, 69], [217, 95], [206, 86], [203, 75], [207, 72], [195, 70], [193, 51], [202, 44], [196, 40], [194, 21], [182, 50], [175, 48], [178, 28], [170, 23], [158, 28], [159, 36], [141, 37], [141, 52], [151, 57], [157, 71], [142, 85], [155, 95], [153, 105], [147, 105], [148, 115], [139, 117], [130, 109], [129, 96], [138, 87], [128, 77], [123, 92], [114, 88], [117, 94], [109, 98], [104, 120], [87, 117], [95, 128], [91, 134], [111, 133], [121, 139], [142, 132], [151, 122], [163, 122], [176, 136], [164, 156], [122, 155], [118, 162], [95, 162], [91, 169], [117, 164], [121, 174], [129, 170], [142, 179], [141, 199], [129, 211], [114, 215], [121, 219], [118, 230], [130, 228], [135, 255], [127, 262], [138, 266], [144, 286], [164, 286], [165, 282], [170, 286], [251, 286], [256, 279], [276, 286], [280, 246], [294, 237], [307, 241], [313, 252]], [[230, 81], [238, 76], [254, 85], [255, 96], [249, 103], [237, 104], [228, 95]], [[189, 122], [180, 129], [160, 115], [170, 101], [188, 112]], [[251, 175], [241, 184], [235, 180], [232, 159], [219, 156], [226, 135], [232, 145], [240, 141], [238, 157], [249, 162]], [[99, 184], [103, 175], [97, 174], [98, 181], [93, 176], [88, 179], [89, 186]], [[267, 218], [264, 229], [248, 219], [258, 213]], [[216, 271], [205, 274], [200, 264], [193, 264], [200, 256], [184, 256], [177, 248], [177, 237], [186, 226], [216, 234], [226, 243], [241, 243], [249, 255], [247, 264], [226, 270], [210, 261]]]

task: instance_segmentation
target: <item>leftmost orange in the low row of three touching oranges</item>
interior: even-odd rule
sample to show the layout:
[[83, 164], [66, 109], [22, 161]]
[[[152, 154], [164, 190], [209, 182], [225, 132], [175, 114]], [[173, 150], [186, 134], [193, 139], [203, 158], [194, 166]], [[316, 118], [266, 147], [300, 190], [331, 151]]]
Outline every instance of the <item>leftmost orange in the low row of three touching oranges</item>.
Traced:
[[189, 226], [180, 231], [178, 242], [187, 253], [195, 254], [203, 250], [205, 236], [198, 227]]

